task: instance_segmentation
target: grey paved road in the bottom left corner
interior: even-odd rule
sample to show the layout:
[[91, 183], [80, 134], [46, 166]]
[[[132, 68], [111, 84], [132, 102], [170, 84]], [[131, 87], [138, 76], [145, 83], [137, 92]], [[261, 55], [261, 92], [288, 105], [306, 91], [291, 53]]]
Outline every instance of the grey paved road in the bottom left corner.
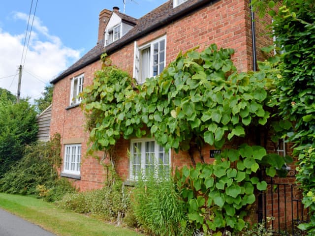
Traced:
[[0, 209], [0, 236], [55, 236], [37, 225]]

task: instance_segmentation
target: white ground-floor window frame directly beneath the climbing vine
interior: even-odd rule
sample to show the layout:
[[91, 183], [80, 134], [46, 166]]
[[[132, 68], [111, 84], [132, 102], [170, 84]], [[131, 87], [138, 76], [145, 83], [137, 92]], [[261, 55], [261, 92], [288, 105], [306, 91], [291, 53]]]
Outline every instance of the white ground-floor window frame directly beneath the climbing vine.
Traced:
[[[147, 142], [154, 142], [154, 152], [147, 152], [146, 151], [146, 143]], [[134, 152], [134, 144], [141, 143], [141, 150], [139, 152], [135, 153]], [[151, 145], [151, 144], [150, 144]], [[157, 141], [155, 141], [154, 138], [141, 138], [141, 139], [132, 139], [130, 141], [130, 165], [129, 165], [129, 177], [130, 180], [137, 180], [138, 175], [140, 173], [135, 173], [134, 172], [134, 166], [139, 166], [141, 175], [143, 177], [146, 176], [146, 168], [152, 166], [153, 170], [155, 171], [155, 175], [158, 176], [158, 171], [159, 171], [159, 166], [163, 166], [163, 169], [170, 170], [171, 166], [171, 150], [168, 150], [168, 152], [165, 152], [165, 149], [162, 148], [162, 151], [160, 150], [162, 148], [161, 146], [158, 145]], [[157, 164], [159, 162], [159, 154], [163, 153], [163, 163], [162, 164]], [[138, 163], [138, 160], [135, 158], [135, 155], [140, 154], [140, 163]], [[150, 159], [153, 157], [154, 160], [150, 163], [146, 163], [146, 154], [149, 155]], [[165, 159], [168, 156], [168, 161], [164, 162]], [[165, 159], [164, 159], [165, 158]], [[158, 165], [158, 166], [157, 166]]]

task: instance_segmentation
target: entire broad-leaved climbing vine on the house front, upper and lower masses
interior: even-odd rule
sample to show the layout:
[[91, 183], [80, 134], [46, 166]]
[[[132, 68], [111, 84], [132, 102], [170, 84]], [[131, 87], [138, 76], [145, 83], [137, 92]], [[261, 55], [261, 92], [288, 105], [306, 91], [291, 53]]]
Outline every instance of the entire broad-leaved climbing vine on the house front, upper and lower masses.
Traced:
[[[234, 137], [244, 140], [253, 127], [267, 124], [268, 88], [276, 73], [270, 62], [261, 63], [259, 72], [239, 73], [233, 53], [215, 44], [202, 52], [191, 50], [142, 85], [105, 55], [102, 70], [82, 94], [91, 152], [110, 150], [120, 138], [143, 136], [154, 136], [165, 149], [188, 150], [195, 167], [184, 167], [176, 176], [189, 220], [218, 236], [225, 227], [245, 227], [254, 189], [267, 186], [255, 177], [258, 169], [265, 166], [274, 177], [284, 165], [284, 158], [263, 147], [234, 142]], [[226, 143], [236, 148], [225, 148], [213, 164], [195, 163], [194, 150], [201, 153], [205, 144], [222, 148]]]

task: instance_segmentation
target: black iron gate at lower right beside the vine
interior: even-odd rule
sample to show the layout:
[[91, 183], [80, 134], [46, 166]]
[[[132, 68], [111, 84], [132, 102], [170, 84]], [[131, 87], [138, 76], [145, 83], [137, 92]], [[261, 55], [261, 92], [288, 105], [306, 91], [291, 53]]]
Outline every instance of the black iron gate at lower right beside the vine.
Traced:
[[[294, 183], [295, 171], [290, 171], [285, 178], [267, 178], [266, 181], [267, 190], [261, 193], [261, 203], [258, 203], [266, 228], [272, 228], [274, 235], [302, 236], [297, 226], [308, 222], [309, 218], [302, 204], [301, 190]], [[272, 220], [268, 222], [268, 218]]]

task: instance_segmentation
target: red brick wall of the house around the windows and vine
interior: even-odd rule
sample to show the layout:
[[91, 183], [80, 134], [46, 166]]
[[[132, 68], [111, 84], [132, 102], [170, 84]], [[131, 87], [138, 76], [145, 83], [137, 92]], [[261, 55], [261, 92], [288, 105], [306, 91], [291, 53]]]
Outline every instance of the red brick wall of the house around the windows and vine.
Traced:
[[[168, 64], [176, 58], [180, 51], [185, 52], [196, 46], [199, 46], [198, 50], [201, 51], [209, 45], [216, 43], [219, 48], [235, 49], [232, 59], [239, 71], [251, 70], [252, 38], [248, 2], [249, 0], [215, 1], [213, 4], [194, 11], [178, 21], [144, 35], [137, 40], [137, 45], [144, 45], [166, 34], [166, 62]], [[258, 25], [258, 31], [260, 30], [259, 27]], [[134, 44], [130, 43], [110, 55], [113, 63], [128, 71], [130, 75], [132, 75], [133, 71], [133, 51]], [[81, 190], [101, 187], [106, 172], [95, 158], [83, 157], [87, 149], [86, 141], [88, 134], [84, 132], [83, 125], [85, 122], [81, 109], [76, 107], [65, 110], [65, 108], [69, 105], [70, 79], [73, 76], [84, 73], [84, 84], [91, 84], [94, 72], [97, 69], [100, 69], [99, 61], [67, 76], [59, 81], [54, 88], [51, 134], [60, 133], [63, 142], [64, 140], [69, 141], [76, 138], [83, 140], [81, 180], [75, 181], [76, 186], [80, 187]], [[118, 174], [123, 179], [127, 179], [129, 176], [129, 160], [127, 157], [127, 149], [129, 148], [130, 141], [123, 139], [116, 146], [115, 166]], [[206, 162], [212, 161], [209, 157], [210, 149], [213, 148], [207, 145], [202, 150], [202, 155]], [[196, 161], [200, 161], [197, 156], [198, 153], [195, 153]], [[171, 165], [173, 169], [176, 166], [190, 164], [190, 158], [187, 153], [172, 153]]]

